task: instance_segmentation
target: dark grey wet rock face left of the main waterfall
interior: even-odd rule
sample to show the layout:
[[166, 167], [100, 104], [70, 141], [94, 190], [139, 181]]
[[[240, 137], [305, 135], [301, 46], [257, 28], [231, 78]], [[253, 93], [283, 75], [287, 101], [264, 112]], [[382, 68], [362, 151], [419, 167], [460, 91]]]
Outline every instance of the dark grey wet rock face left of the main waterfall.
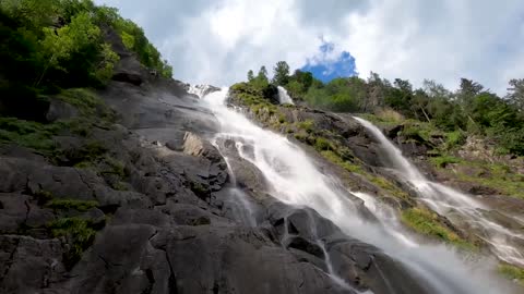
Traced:
[[[235, 146], [217, 142], [246, 171], [228, 176], [206, 139], [214, 118], [182, 84], [114, 82], [100, 95], [121, 125], [57, 136], [59, 161], [1, 149], [1, 293], [428, 292], [317, 212], [276, 201]], [[104, 142], [119, 172], [73, 164], [88, 140]], [[234, 191], [251, 197], [252, 222], [230, 212]]]

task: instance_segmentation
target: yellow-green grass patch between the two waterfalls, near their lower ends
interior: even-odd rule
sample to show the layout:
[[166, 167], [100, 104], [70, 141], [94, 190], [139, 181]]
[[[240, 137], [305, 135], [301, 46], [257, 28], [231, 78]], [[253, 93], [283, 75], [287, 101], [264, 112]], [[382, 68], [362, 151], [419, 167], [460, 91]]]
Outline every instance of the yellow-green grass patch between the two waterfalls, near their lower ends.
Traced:
[[461, 248], [475, 249], [475, 245], [460, 237], [451, 229], [442, 225], [438, 216], [426, 208], [414, 207], [405, 209], [402, 211], [401, 220], [405, 225], [422, 235], [456, 245]]

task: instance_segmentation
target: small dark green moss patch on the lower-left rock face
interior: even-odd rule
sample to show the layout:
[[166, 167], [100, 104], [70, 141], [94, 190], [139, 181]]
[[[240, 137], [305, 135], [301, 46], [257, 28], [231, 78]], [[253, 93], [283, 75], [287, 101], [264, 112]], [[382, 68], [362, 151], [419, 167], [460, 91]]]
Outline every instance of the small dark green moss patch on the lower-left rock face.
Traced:
[[97, 230], [91, 220], [81, 218], [63, 218], [47, 224], [55, 237], [66, 237], [70, 248], [64, 256], [68, 267], [72, 267], [82, 257], [82, 253], [94, 242]]

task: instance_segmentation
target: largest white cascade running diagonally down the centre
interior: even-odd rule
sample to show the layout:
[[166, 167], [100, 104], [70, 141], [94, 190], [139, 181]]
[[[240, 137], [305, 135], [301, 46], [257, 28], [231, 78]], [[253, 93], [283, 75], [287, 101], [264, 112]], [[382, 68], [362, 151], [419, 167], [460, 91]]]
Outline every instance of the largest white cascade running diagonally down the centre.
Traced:
[[[257, 126], [241, 113], [227, 108], [227, 94], [228, 89], [224, 88], [203, 98], [221, 123], [222, 133], [217, 136], [252, 147], [250, 155], [240, 152], [240, 156], [264, 174], [275, 198], [288, 205], [312, 208], [347, 235], [379, 247], [416, 272], [434, 293], [505, 293], [500, 280], [480, 266], [486, 262], [468, 265], [443, 245], [417, 245], [394, 224], [397, 221], [394, 213], [382, 209], [371, 196], [352, 194], [336, 179], [320, 172], [287, 138]], [[364, 199], [383, 223], [358, 217], [354, 197]]]

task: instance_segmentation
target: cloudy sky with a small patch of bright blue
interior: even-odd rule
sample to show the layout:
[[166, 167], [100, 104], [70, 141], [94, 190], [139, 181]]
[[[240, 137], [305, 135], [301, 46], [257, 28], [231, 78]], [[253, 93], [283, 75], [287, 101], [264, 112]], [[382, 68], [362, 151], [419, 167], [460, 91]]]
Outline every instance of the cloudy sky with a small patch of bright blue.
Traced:
[[285, 60], [321, 79], [379, 73], [504, 94], [524, 78], [522, 0], [95, 0], [142, 26], [191, 84], [227, 86]]

